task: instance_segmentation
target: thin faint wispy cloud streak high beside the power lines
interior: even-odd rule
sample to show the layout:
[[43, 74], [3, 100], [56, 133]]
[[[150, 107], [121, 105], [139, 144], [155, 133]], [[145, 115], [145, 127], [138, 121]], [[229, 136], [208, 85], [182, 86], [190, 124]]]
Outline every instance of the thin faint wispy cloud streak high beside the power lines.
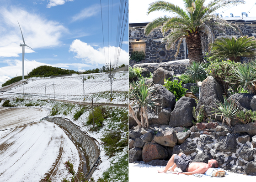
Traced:
[[88, 8], [81, 10], [80, 13], [73, 16], [72, 22], [77, 21], [77, 20], [83, 20], [85, 18], [89, 18], [91, 16], [96, 15], [98, 12], [100, 12], [99, 5], [92, 5]]

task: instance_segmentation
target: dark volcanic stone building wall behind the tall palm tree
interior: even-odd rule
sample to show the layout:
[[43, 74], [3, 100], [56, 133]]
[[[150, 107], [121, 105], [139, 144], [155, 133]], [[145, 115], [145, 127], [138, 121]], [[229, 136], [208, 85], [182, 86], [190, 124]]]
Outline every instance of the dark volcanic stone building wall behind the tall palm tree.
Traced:
[[[240, 28], [242, 35], [248, 36], [256, 36], [256, 25], [255, 24], [237, 24]], [[167, 35], [165, 33], [165, 35]], [[226, 28], [222, 33], [214, 31], [213, 32], [215, 39], [223, 36], [232, 37], [233, 35], [240, 36], [239, 32], [235, 32], [230, 28]], [[133, 48], [132, 44], [138, 42], [144, 42], [145, 44], [145, 60], [136, 62], [136, 61], [129, 61], [129, 65], [133, 66], [135, 64], [141, 63], [161, 63], [167, 61], [175, 61], [181, 59], [187, 59], [187, 50], [186, 50], [186, 42], [183, 41], [180, 47], [179, 55], [177, 58], [174, 57], [176, 54], [176, 50], [167, 50], [165, 48], [165, 43], [162, 42], [163, 34], [159, 29], [155, 29], [152, 31], [148, 36], [144, 34], [144, 27], [129, 27], [129, 55], [132, 54]], [[139, 41], [136, 41], [138, 40]], [[242, 61], [246, 61], [244, 57], [241, 58]]]

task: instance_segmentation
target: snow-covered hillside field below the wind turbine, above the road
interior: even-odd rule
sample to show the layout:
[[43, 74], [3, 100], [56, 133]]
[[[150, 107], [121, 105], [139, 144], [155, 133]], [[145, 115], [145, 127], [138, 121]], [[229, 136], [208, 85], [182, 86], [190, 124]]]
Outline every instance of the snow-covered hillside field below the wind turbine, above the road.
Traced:
[[[121, 71], [115, 74], [115, 78], [112, 78], [112, 91], [114, 92], [112, 103], [128, 104], [128, 100], [123, 100], [123, 95], [120, 94], [120, 92], [128, 91], [128, 74], [128, 71]], [[83, 77], [86, 79], [84, 82]], [[29, 98], [53, 99], [55, 97], [55, 99], [61, 100], [83, 101], [85, 95], [85, 102], [91, 102], [93, 97], [94, 102], [107, 103], [110, 101], [110, 97], [101, 96], [102, 92], [106, 91], [111, 91], [110, 78], [108, 78], [107, 73], [73, 74], [72, 76], [56, 78], [34, 77], [25, 79], [20, 81], [19, 85], [14, 83], [11, 89], [10, 86], [0, 88], [0, 98], [17, 97], [24, 93], [34, 95], [29, 96]]]

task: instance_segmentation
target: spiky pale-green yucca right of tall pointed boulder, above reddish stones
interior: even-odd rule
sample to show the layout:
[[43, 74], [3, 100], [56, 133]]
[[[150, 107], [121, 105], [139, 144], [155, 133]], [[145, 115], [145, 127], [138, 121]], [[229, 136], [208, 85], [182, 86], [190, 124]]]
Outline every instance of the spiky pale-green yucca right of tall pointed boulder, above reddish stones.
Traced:
[[224, 102], [218, 101], [216, 103], [217, 109], [213, 108], [212, 112], [215, 112], [213, 115], [221, 116], [221, 120], [224, 123], [228, 124], [229, 127], [231, 127], [231, 118], [235, 118], [237, 112], [238, 112], [238, 106], [235, 103], [235, 100], [227, 100], [226, 97], [224, 97]]

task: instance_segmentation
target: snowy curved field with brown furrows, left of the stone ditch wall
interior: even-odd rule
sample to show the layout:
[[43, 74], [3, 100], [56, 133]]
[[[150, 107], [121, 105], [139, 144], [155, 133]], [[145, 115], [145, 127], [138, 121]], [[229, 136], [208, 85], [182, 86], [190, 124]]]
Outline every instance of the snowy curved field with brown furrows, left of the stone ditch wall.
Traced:
[[[31, 113], [25, 110], [23, 116]], [[1, 115], [4, 121], [15, 122], [16, 119], [16, 116], [9, 115], [7, 120]], [[64, 167], [66, 161], [73, 163], [75, 172], [82, 163], [73, 142], [51, 122], [37, 121], [0, 131], [1, 182], [39, 182], [46, 176], [52, 182], [59, 182], [64, 177], [70, 177]]]

